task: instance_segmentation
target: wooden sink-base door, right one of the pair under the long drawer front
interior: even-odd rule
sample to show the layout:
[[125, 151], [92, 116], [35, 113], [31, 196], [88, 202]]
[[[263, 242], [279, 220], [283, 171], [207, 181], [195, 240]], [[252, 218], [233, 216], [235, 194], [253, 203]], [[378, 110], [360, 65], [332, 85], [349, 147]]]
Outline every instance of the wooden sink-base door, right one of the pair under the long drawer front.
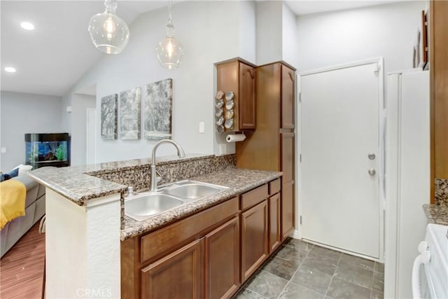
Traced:
[[239, 288], [239, 217], [205, 236], [205, 296], [230, 298]]

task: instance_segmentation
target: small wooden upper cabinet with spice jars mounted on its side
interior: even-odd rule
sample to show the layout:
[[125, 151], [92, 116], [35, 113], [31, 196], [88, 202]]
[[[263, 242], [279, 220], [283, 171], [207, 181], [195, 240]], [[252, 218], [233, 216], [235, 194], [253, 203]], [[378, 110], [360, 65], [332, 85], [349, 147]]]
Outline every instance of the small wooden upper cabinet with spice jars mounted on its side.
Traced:
[[[233, 112], [233, 127], [226, 132], [255, 130], [255, 66], [241, 59], [216, 64], [216, 90], [234, 93], [232, 109], [223, 106], [223, 117]], [[224, 99], [224, 103], [227, 101]]]

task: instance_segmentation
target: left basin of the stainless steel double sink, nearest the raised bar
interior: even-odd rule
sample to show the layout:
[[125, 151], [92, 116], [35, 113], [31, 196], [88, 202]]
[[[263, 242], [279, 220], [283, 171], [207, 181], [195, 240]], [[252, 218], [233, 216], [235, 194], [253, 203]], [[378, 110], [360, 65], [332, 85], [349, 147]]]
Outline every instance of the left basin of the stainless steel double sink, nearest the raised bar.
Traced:
[[140, 221], [148, 218], [148, 216], [179, 207], [183, 203], [182, 200], [171, 195], [141, 194], [125, 200], [125, 214]]

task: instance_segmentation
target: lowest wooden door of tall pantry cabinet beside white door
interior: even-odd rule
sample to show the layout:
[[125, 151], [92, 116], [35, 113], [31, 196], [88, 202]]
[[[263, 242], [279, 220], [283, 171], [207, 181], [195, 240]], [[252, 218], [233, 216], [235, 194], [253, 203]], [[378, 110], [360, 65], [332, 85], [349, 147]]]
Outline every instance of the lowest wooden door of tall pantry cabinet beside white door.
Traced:
[[281, 235], [285, 239], [294, 230], [294, 181], [283, 183], [281, 188]]

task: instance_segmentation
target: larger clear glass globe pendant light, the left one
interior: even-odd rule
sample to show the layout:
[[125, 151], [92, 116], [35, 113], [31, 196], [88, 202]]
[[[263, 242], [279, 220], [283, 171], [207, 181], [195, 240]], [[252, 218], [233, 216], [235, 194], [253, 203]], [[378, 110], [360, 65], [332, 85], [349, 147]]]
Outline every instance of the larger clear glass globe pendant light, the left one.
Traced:
[[89, 21], [89, 33], [93, 44], [106, 54], [118, 54], [129, 41], [129, 28], [116, 15], [117, 0], [105, 0], [104, 13], [97, 13]]

